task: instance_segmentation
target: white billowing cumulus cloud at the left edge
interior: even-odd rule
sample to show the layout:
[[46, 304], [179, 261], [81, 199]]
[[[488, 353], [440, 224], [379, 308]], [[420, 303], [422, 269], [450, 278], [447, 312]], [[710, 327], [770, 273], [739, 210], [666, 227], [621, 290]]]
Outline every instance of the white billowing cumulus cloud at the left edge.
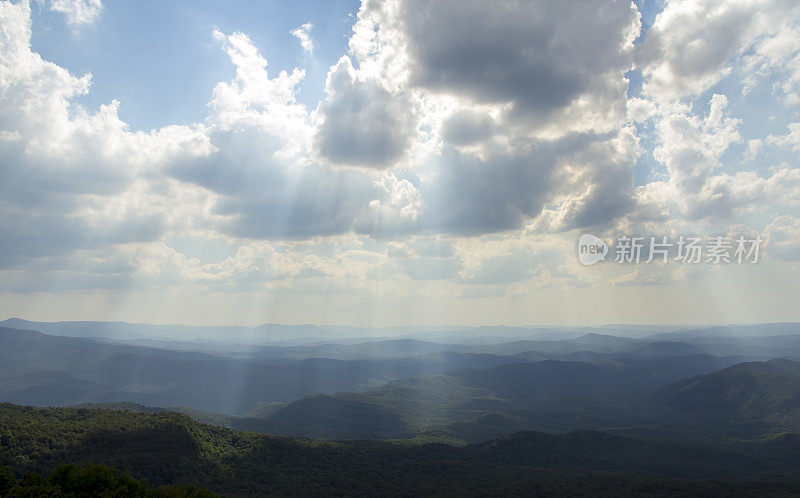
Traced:
[[133, 133], [116, 101], [88, 113], [74, 98], [91, 75], [31, 51], [28, 3], [0, 3], [0, 24], [0, 263], [159, 237], [169, 215], [148, 206], [145, 177], [203, 155], [205, 137], [180, 126]]

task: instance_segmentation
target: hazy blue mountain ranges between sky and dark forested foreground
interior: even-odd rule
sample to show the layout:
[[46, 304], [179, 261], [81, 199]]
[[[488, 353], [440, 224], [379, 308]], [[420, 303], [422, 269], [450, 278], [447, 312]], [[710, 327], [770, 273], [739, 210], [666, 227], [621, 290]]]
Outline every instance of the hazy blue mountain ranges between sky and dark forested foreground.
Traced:
[[[171, 407], [204, 422], [273, 434], [477, 442], [516, 430], [619, 428], [687, 417], [708, 423], [700, 407], [711, 398], [700, 394], [693, 400], [688, 388], [665, 394], [671, 383], [766, 359], [764, 349], [794, 357], [792, 347], [800, 345], [800, 335], [786, 335], [795, 330], [791, 325], [775, 324], [746, 327], [747, 336], [736, 327], [730, 336], [715, 328], [709, 337], [706, 329], [695, 329], [640, 339], [562, 331], [561, 340], [496, 337], [495, 344], [390, 338], [229, 343], [215, 351], [209, 343], [141, 345], [85, 337], [117, 326], [140, 327], [88, 323], [93, 325], [40, 327], [79, 337], [0, 328], [0, 399], [40, 406]], [[682, 341], [665, 340], [687, 334]], [[747, 354], [742, 346], [753, 341], [759, 354]], [[685, 417], [686, 408], [697, 413]], [[769, 427], [783, 427], [792, 418], [771, 417], [764, 422]], [[728, 419], [740, 425], [750, 420]]]

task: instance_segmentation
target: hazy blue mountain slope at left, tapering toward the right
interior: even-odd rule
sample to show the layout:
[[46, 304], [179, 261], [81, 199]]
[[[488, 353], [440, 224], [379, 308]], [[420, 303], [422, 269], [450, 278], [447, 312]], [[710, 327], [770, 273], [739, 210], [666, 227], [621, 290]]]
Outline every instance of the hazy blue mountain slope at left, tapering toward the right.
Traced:
[[309, 358], [277, 364], [0, 328], [0, 399], [32, 405], [130, 401], [241, 415], [313, 393], [519, 359], [432, 353], [412, 359]]

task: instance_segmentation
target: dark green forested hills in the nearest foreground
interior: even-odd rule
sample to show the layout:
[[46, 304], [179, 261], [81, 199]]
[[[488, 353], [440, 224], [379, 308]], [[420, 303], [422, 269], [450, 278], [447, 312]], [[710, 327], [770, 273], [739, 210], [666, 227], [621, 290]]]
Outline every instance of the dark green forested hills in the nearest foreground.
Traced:
[[800, 493], [791, 463], [798, 457], [796, 437], [733, 450], [591, 431], [521, 432], [459, 448], [266, 436], [169, 412], [0, 405], [0, 463], [17, 473], [105, 464], [153, 486], [182, 483], [223, 495], [787, 495]]

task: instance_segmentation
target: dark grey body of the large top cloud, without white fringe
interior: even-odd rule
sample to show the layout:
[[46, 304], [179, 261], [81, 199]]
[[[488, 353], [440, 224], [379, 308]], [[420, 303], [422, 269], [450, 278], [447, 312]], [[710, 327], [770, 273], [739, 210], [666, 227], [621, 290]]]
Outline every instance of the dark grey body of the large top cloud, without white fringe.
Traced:
[[[411, 79], [516, 112], [549, 114], [622, 78], [638, 14], [630, 2], [412, 0], [402, 27]], [[600, 87], [600, 88], [598, 88]]]

